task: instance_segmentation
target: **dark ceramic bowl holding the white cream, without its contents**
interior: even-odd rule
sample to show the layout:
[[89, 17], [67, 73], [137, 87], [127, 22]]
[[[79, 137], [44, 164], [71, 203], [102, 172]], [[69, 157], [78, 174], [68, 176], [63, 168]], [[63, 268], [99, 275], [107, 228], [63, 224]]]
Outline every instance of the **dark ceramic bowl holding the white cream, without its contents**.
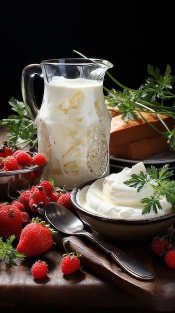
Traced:
[[78, 190], [81, 190], [94, 181], [95, 180], [87, 181], [75, 187], [71, 191], [71, 202], [84, 224], [105, 237], [125, 242], [149, 240], [161, 234], [175, 223], [175, 212], [154, 218], [133, 220], [105, 217], [87, 211], [77, 203], [76, 195]]

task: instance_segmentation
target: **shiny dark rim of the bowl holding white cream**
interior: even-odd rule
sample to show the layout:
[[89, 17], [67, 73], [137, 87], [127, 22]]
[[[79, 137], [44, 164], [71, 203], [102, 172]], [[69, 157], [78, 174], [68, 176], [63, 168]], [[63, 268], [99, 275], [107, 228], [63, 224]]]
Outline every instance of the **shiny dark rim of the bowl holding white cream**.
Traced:
[[70, 194], [70, 200], [71, 200], [73, 206], [75, 207], [75, 209], [77, 211], [79, 211], [80, 213], [85, 214], [88, 217], [91, 217], [93, 219], [97, 219], [98, 221], [101, 220], [101, 221], [106, 221], [109, 223], [117, 222], [119, 224], [127, 224], [127, 225], [132, 224], [133, 225], [133, 224], [153, 224], [153, 223], [157, 223], [160, 221], [171, 219], [172, 217], [175, 216], [175, 211], [174, 211], [174, 212], [169, 213], [167, 215], [157, 216], [157, 217], [152, 217], [152, 218], [122, 219], [122, 218], [114, 218], [114, 217], [106, 217], [106, 216], [103, 217], [102, 215], [98, 215], [98, 214], [92, 213], [90, 211], [87, 211], [86, 209], [84, 209], [82, 206], [80, 206], [77, 203], [76, 194], [77, 194], [78, 190], [81, 190], [83, 187], [92, 184], [95, 180], [97, 180], [97, 179], [89, 180], [89, 181], [86, 181], [86, 182], [79, 184], [78, 186], [76, 186], [71, 191], [71, 194]]

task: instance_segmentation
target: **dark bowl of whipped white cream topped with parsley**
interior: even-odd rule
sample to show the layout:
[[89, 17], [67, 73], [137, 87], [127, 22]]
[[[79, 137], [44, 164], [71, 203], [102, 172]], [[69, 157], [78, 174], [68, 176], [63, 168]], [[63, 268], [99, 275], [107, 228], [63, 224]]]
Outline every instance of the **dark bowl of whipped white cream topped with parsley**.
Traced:
[[158, 172], [139, 162], [76, 186], [71, 202], [84, 224], [107, 238], [148, 240], [175, 225], [175, 180], [168, 168]]

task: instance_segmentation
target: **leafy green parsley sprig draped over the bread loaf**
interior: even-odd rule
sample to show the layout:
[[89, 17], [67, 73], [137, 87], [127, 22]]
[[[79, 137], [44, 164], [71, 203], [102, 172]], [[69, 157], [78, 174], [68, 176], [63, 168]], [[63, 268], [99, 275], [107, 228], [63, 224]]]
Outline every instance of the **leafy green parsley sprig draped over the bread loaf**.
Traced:
[[171, 74], [171, 66], [168, 64], [164, 75], [160, 73], [158, 67], [148, 65], [148, 78], [146, 82], [140, 86], [139, 89], [131, 89], [118, 80], [116, 80], [108, 71], [107, 75], [115, 82], [121, 90], [112, 88], [109, 90], [104, 86], [104, 90], [108, 92], [105, 99], [109, 106], [116, 106], [120, 109], [122, 119], [134, 120], [141, 116], [146, 122], [142, 112], [155, 113], [165, 126], [165, 131], [156, 129], [163, 137], [168, 139], [170, 149], [175, 150], [175, 126], [169, 129], [167, 124], [162, 120], [159, 114], [168, 114], [175, 118], [175, 75]]

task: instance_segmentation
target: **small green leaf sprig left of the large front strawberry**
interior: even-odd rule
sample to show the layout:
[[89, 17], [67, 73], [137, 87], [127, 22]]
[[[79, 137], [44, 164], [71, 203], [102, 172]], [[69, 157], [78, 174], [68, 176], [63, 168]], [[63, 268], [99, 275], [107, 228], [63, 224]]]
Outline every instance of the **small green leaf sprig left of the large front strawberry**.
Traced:
[[9, 263], [11, 265], [17, 265], [15, 262], [15, 258], [20, 257], [23, 258], [26, 255], [23, 253], [18, 253], [15, 248], [12, 246], [12, 242], [15, 239], [14, 235], [9, 236], [8, 239], [6, 239], [6, 242], [2, 240], [2, 237], [0, 237], [0, 257], [3, 257], [6, 263]]

